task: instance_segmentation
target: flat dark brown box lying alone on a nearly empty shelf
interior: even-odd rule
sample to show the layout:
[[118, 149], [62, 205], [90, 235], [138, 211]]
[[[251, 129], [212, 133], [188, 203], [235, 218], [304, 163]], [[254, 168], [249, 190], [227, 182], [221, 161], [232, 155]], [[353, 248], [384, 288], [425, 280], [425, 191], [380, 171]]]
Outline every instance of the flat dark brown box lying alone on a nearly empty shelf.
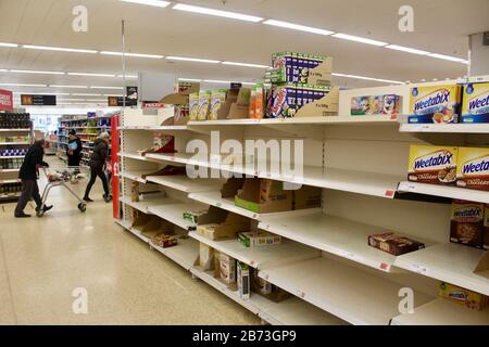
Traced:
[[425, 247], [425, 244], [393, 232], [368, 235], [368, 245], [380, 250], [390, 253], [394, 256], [418, 250]]

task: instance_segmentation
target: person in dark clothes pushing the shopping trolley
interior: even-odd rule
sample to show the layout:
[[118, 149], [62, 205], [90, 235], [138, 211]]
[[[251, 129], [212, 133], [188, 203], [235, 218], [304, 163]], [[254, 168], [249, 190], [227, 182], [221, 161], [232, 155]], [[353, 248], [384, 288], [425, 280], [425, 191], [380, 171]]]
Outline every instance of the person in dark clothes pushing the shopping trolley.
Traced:
[[[24, 157], [24, 163], [21, 166], [18, 178], [22, 180], [22, 195], [15, 207], [15, 217], [27, 218], [30, 215], [24, 213], [24, 208], [30, 198], [34, 198], [36, 203], [36, 210], [39, 210], [42, 206], [42, 200], [39, 195], [39, 187], [37, 180], [39, 178], [39, 168], [49, 167], [49, 165], [42, 162], [45, 155], [45, 140], [39, 139], [29, 147], [27, 154]], [[45, 206], [43, 211], [48, 211], [52, 206]]]

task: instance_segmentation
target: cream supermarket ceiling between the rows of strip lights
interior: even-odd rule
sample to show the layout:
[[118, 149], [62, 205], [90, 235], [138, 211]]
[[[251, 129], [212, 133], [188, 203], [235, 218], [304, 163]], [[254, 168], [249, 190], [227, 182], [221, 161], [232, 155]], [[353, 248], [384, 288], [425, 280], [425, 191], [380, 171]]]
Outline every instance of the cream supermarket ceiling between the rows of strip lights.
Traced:
[[[467, 65], [426, 54], [413, 54], [344, 40], [335, 35], [312, 34], [284, 27], [128, 3], [121, 0], [0, 0], [0, 88], [8, 83], [120, 87], [121, 21], [126, 21], [126, 50], [165, 57], [127, 57], [127, 72], [172, 72], [186, 78], [242, 80], [260, 78], [264, 69], [226, 64], [168, 60], [185, 56], [269, 65], [277, 51], [327, 54], [337, 74], [396, 81], [418, 81], [463, 76]], [[224, 3], [224, 4], [223, 4]], [[88, 9], [88, 31], [72, 29], [73, 8]], [[489, 29], [488, 0], [189, 0], [211, 9], [285, 21], [334, 33], [348, 34], [390, 44], [467, 59], [467, 35]], [[414, 31], [401, 33], [400, 7], [414, 10]], [[323, 34], [325, 34], [323, 31]], [[326, 33], [328, 34], [328, 33]], [[329, 33], [330, 34], [330, 33]], [[380, 43], [381, 43], [380, 42]], [[23, 44], [95, 50], [97, 53], [27, 49]], [[423, 52], [422, 52], [423, 53]], [[113, 74], [71, 76], [12, 70]], [[336, 76], [343, 87], [377, 86], [381, 82]], [[68, 91], [63, 87], [11, 87], [23, 91]], [[116, 89], [98, 89], [110, 93]], [[77, 89], [85, 92], [86, 89]]]

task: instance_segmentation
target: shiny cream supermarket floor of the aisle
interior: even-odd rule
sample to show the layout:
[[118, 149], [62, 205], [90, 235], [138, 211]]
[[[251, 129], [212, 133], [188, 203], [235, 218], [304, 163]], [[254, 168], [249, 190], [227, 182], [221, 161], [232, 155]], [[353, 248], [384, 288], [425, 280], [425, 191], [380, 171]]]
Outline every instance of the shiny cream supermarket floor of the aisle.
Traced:
[[[15, 219], [15, 204], [0, 205], [0, 324], [260, 322], [123, 232], [101, 196], [97, 183], [96, 203], [83, 215], [67, 192], [53, 191], [54, 208], [41, 219]], [[73, 312], [72, 294], [79, 287], [88, 292], [88, 314]]]

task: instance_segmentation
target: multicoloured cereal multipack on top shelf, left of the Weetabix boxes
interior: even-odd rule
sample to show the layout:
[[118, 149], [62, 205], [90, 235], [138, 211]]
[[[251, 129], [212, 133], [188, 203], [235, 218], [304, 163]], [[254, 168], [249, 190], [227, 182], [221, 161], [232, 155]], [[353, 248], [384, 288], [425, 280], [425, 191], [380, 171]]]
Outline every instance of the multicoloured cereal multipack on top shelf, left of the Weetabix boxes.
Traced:
[[396, 94], [354, 97], [351, 99], [350, 115], [396, 115], [401, 97]]

